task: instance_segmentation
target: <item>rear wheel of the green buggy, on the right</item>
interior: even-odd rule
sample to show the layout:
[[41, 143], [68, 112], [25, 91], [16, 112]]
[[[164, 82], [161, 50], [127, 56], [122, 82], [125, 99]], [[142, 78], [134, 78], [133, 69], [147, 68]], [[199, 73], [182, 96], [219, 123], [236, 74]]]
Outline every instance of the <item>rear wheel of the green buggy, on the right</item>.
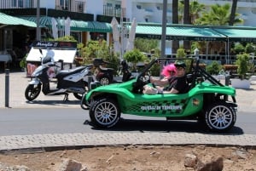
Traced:
[[224, 102], [210, 105], [205, 112], [205, 123], [212, 132], [225, 132], [235, 125], [236, 110]]

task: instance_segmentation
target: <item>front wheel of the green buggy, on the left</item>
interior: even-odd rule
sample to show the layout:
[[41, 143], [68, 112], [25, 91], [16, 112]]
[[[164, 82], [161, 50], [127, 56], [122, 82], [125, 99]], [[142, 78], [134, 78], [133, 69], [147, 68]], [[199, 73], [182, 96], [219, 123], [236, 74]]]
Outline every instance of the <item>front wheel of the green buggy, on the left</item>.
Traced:
[[98, 128], [111, 128], [120, 119], [117, 102], [112, 99], [95, 100], [90, 106], [90, 121]]

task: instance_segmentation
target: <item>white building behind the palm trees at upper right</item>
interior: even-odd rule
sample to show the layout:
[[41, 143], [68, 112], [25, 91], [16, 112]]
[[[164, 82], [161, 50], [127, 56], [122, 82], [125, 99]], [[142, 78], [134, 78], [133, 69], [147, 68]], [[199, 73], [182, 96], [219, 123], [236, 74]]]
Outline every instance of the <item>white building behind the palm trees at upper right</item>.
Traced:
[[[193, 0], [190, 0], [192, 2]], [[93, 2], [92, 0], [87, 0], [87, 3]], [[102, 0], [99, 0], [102, 2]], [[231, 0], [198, 0], [199, 3], [205, 4], [207, 9], [210, 8], [212, 4], [218, 3], [223, 5], [224, 3], [230, 3]], [[172, 1], [167, 0], [167, 21], [172, 23]], [[102, 8], [99, 3], [95, 4], [95, 9]], [[133, 18], [137, 19], [137, 22], [162, 22], [162, 9], [163, 0], [105, 0], [103, 5], [110, 8], [123, 8], [125, 9], [125, 17], [128, 20]], [[241, 14], [241, 18], [244, 20], [243, 26], [256, 26], [256, 0], [238, 0], [237, 10], [238, 14]], [[108, 13], [108, 10], [104, 10], [102, 14]]]

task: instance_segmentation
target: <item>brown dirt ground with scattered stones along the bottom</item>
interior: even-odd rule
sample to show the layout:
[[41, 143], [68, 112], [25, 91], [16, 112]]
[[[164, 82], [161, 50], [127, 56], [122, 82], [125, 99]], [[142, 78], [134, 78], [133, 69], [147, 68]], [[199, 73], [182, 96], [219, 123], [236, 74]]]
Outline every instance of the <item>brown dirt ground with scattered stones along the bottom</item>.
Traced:
[[[56, 171], [64, 158], [81, 162], [88, 171], [193, 171], [194, 168], [184, 166], [186, 154], [194, 154], [202, 162], [209, 157], [223, 157], [224, 171], [256, 170], [256, 150], [204, 145], [131, 145], [61, 151], [9, 151], [0, 154], [0, 162], [12, 167], [25, 165], [32, 171]], [[10, 169], [2, 166], [0, 170]]]

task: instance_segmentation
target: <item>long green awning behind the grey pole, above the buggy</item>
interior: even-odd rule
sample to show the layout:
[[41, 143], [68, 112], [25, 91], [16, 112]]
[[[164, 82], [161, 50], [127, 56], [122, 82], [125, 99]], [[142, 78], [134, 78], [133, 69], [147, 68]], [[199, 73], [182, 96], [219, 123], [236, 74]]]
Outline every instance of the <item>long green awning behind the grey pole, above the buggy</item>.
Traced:
[[[161, 26], [138, 25], [136, 37], [161, 39]], [[224, 41], [226, 37], [211, 28], [199, 26], [166, 26], [166, 40]]]

